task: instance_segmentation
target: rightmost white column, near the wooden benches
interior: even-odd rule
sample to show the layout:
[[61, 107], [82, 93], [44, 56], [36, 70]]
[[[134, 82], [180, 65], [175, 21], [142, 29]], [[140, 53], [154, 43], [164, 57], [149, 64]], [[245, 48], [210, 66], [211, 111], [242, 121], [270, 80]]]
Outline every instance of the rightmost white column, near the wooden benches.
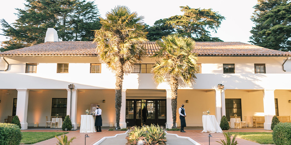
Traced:
[[264, 129], [271, 130], [272, 118], [276, 115], [274, 90], [263, 90], [265, 123]]

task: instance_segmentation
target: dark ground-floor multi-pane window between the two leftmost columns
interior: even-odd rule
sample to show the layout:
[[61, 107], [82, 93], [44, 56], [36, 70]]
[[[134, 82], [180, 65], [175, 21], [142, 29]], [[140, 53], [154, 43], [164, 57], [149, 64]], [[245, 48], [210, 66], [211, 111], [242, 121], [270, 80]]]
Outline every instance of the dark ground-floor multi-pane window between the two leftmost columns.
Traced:
[[62, 116], [63, 120], [67, 115], [67, 98], [52, 98], [52, 116]]

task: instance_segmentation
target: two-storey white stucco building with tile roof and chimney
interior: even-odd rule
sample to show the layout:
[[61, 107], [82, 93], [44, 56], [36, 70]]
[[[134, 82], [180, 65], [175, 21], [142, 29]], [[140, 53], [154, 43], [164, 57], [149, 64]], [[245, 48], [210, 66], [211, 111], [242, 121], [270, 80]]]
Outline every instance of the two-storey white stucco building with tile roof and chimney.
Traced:
[[[85, 110], [98, 103], [103, 126], [115, 126], [115, 77], [100, 64], [95, 44], [57, 41], [56, 32], [48, 32], [52, 33], [43, 44], [0, 53], [0, 122], [18, 115], [22, 129], [45, 126], [46, 116], [65, 117], [71, 109], [77, 128]], [[139, 108], [146, 104], [147, 124], [166, 122], [171, 128], [171, 88], [167, 83], [156, 85], [150, 73], [155, 64], [150, 56], [159, 48], [155, 42], [145, 47], [148, 57], [124, 77], [120, 126], [139, 125]], [[241, 42], [196, 42], [195, 53], [200, 66], [196, 83], [178, 90], [178, 107], [184, 103], [187, 126], [202, 126], [202, 113], [208, 109], [218, 122], [221, 115], [246, 116], [248, 126], [252, 116], [265, 116], [265, 123], [258, 124], [265, 129], [270, 129], [274, 115], [291, 115], [290, 52]], [[72, 106], [69, 84], [75, 85]]]

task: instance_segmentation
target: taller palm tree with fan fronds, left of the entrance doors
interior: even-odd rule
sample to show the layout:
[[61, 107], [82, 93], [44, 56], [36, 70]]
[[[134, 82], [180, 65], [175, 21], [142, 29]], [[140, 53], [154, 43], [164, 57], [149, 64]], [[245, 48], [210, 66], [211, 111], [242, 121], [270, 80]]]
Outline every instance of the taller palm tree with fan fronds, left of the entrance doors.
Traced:
[[146, 56], [144, 44], [143, 16], [130, 12], [126, 6], [117, 6], [106, 13], [106, 19], [100, 18], [103, 25], [95, 30], [94, 42], [97, 42], [97, 52], [102, 63], [107, 64], [115, 72], [115, 108], [116, 127], [120, 128], [120, 108], [123, 75], [131, 73], [134, 64]]

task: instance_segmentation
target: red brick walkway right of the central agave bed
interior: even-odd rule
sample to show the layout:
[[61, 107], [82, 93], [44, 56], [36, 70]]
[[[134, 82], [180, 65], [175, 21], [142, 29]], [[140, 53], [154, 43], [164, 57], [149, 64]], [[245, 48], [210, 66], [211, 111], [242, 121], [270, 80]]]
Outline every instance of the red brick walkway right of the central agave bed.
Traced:
[[[180, 131], [167, 131], [168, 133], [177, 134], [179, 136], [184, 137], [191, 137], [194, 141], [198, 142], [201, 145], [208, 145], [209, 144], [209, 133], [201, 133], [203, 130], [195, 130], [193, 128], [190, 128], [191, 130], [187, 130], [185, 128], [186, 133], [181, 133]], [[256, 129], [256, 128], [242, 128], [242, 129], [234, 129], [231, 128], [230, 132], [272, 132], [272, 131], [266, 131], [263, 129]], [[220, 141], [220, 139], [225, 140], [223, 133], [211, 133], [212, 137], [210, 137], [210, 144], [211, 145], [221, 145], [220, 143], [216, 141]], [[260, 145], [255, 142], [247, 141], [244, 139], [236, 138], [238, 144], [240, 145]]]

